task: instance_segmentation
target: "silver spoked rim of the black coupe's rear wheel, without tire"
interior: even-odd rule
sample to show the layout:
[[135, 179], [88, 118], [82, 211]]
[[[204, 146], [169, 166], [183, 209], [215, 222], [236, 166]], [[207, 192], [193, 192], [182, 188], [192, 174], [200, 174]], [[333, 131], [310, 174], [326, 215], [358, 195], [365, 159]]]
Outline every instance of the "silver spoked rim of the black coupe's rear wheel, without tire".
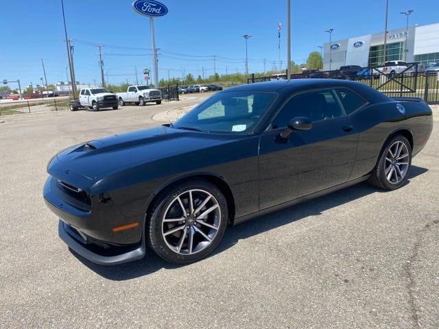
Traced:
[[398, 184], [407, 175], [409, 168], [409, 150], [402, 141], [396, 141], [390, 145], [385, 156], [385, 178], [391, 184]]

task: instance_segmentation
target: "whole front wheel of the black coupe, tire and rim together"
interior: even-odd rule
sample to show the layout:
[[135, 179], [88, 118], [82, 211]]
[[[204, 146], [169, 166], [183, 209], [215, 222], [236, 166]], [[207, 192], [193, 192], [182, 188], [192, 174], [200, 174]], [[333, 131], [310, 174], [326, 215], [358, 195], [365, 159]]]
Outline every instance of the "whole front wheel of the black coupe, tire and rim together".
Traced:
[[193, 263], [217, 247], [227, 226], [228, 208], [217, 186], [193, 180], [174, 186], [149, 212], [147, 239], [170, 263]]

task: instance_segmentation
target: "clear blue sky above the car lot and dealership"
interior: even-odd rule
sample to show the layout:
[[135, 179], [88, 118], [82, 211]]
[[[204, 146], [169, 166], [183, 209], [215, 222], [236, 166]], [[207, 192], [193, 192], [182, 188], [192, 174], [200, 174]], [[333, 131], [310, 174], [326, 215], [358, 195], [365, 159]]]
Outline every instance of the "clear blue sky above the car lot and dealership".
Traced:
[[[181, 77], [213, 74], [213, 60], [193, 56], [217, 55], [217, 72], [245, 69], [245, 42], [248, 40], [249, 71], [263, 71], [278, 60], [277, 25], [283, 23], [281, 56], [286, 58], [285, 0], [161, 0], [169, 14], [155, 20], [159, 76]], [[98, 50], [86, 42], [104, 47], [105, 71], [110, 83], [135, 81], [134, 66], [141, 72], [151, 67], [149, 20], [134, 13], [132, 0], [64, 0], [69, 38], [75, 45], [75, 71], [80, 82], [97, 82]], [[292, 0], [292, 59], [305, 62], [310, 51], [327, 42], [324, 29], [332, 27], [333, 40], [383, 31], [385, 0]], [[414, 9], [410, 25], [439, 22], [436, 0], [390, 0], [389, 29], [405, 26], [401, 11]], [[64, 43], [61, 5], [58, 0], [1, 0], [0, 80], [19, 78], [25, 86], [38, 84], [44, 58], [48, 83], [67, 80], [67, 51]], [[86, 41], [86, 42], [83, 42]], [[139, 49], [128, 49], [126, 46]], [[144, 50], [143, 50], [144, 49]], [[116, 56], [124, 54], [125, 56]], [[138, 55], [141, 56], [128, 56]], [[238, 60], [234, 60], [238, 59]], [[139, 79], [142, 76], [139, 75]]]

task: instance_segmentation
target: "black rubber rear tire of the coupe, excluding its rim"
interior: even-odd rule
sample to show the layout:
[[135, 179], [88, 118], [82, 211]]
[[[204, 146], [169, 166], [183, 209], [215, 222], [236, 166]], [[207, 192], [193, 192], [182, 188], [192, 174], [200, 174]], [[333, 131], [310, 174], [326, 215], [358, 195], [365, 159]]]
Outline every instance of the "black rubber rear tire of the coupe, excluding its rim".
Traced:
[[[408, 167], [407, 170], [405, 171], [405, 175], [403, 179], [401, 179], [400, 182], [392, 183], [389, 182], [389, 180], [386, 178], [385, 175], [385, 158], [388, 155], [390, 147], [392, 147], [392, 145], [394, 145], [394, 143], [396, 142], [403, 142], [405, 144], [405, 147], [407, 147]], [[408, 173], [410, 172], [411, 166], [412, 166], [412, 147], [410, 146], [409, 141], [407, 141], [407, 138], [405, 138], [402, 135], [396, 135], [390, 138], [387, 142], [385, 142], [383, 149], [379, 154], [377, 164], [375, 165], [375, 168], [372, 170], [372, 175], [370, 175], [368, 182], [372, 186], [383, 188], [384, 190], [396, 190], [396, 188], [400, 188], [407, 181], [407, 176]]]

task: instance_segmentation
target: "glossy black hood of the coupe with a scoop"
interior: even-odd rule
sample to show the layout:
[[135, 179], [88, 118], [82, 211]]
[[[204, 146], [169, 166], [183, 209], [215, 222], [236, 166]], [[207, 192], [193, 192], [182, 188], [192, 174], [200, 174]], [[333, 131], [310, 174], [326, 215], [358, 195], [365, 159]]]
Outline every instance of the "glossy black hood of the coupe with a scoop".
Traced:
[[[64, 171], [74, 171], [97, 182], [112, 173], [197, 151], [228, 139], [230, 135], [160, 126], [76, 145], [61, 151], [56, 159], [62, 164]], [[50, 164], [48, 171], [51, 173]]]

